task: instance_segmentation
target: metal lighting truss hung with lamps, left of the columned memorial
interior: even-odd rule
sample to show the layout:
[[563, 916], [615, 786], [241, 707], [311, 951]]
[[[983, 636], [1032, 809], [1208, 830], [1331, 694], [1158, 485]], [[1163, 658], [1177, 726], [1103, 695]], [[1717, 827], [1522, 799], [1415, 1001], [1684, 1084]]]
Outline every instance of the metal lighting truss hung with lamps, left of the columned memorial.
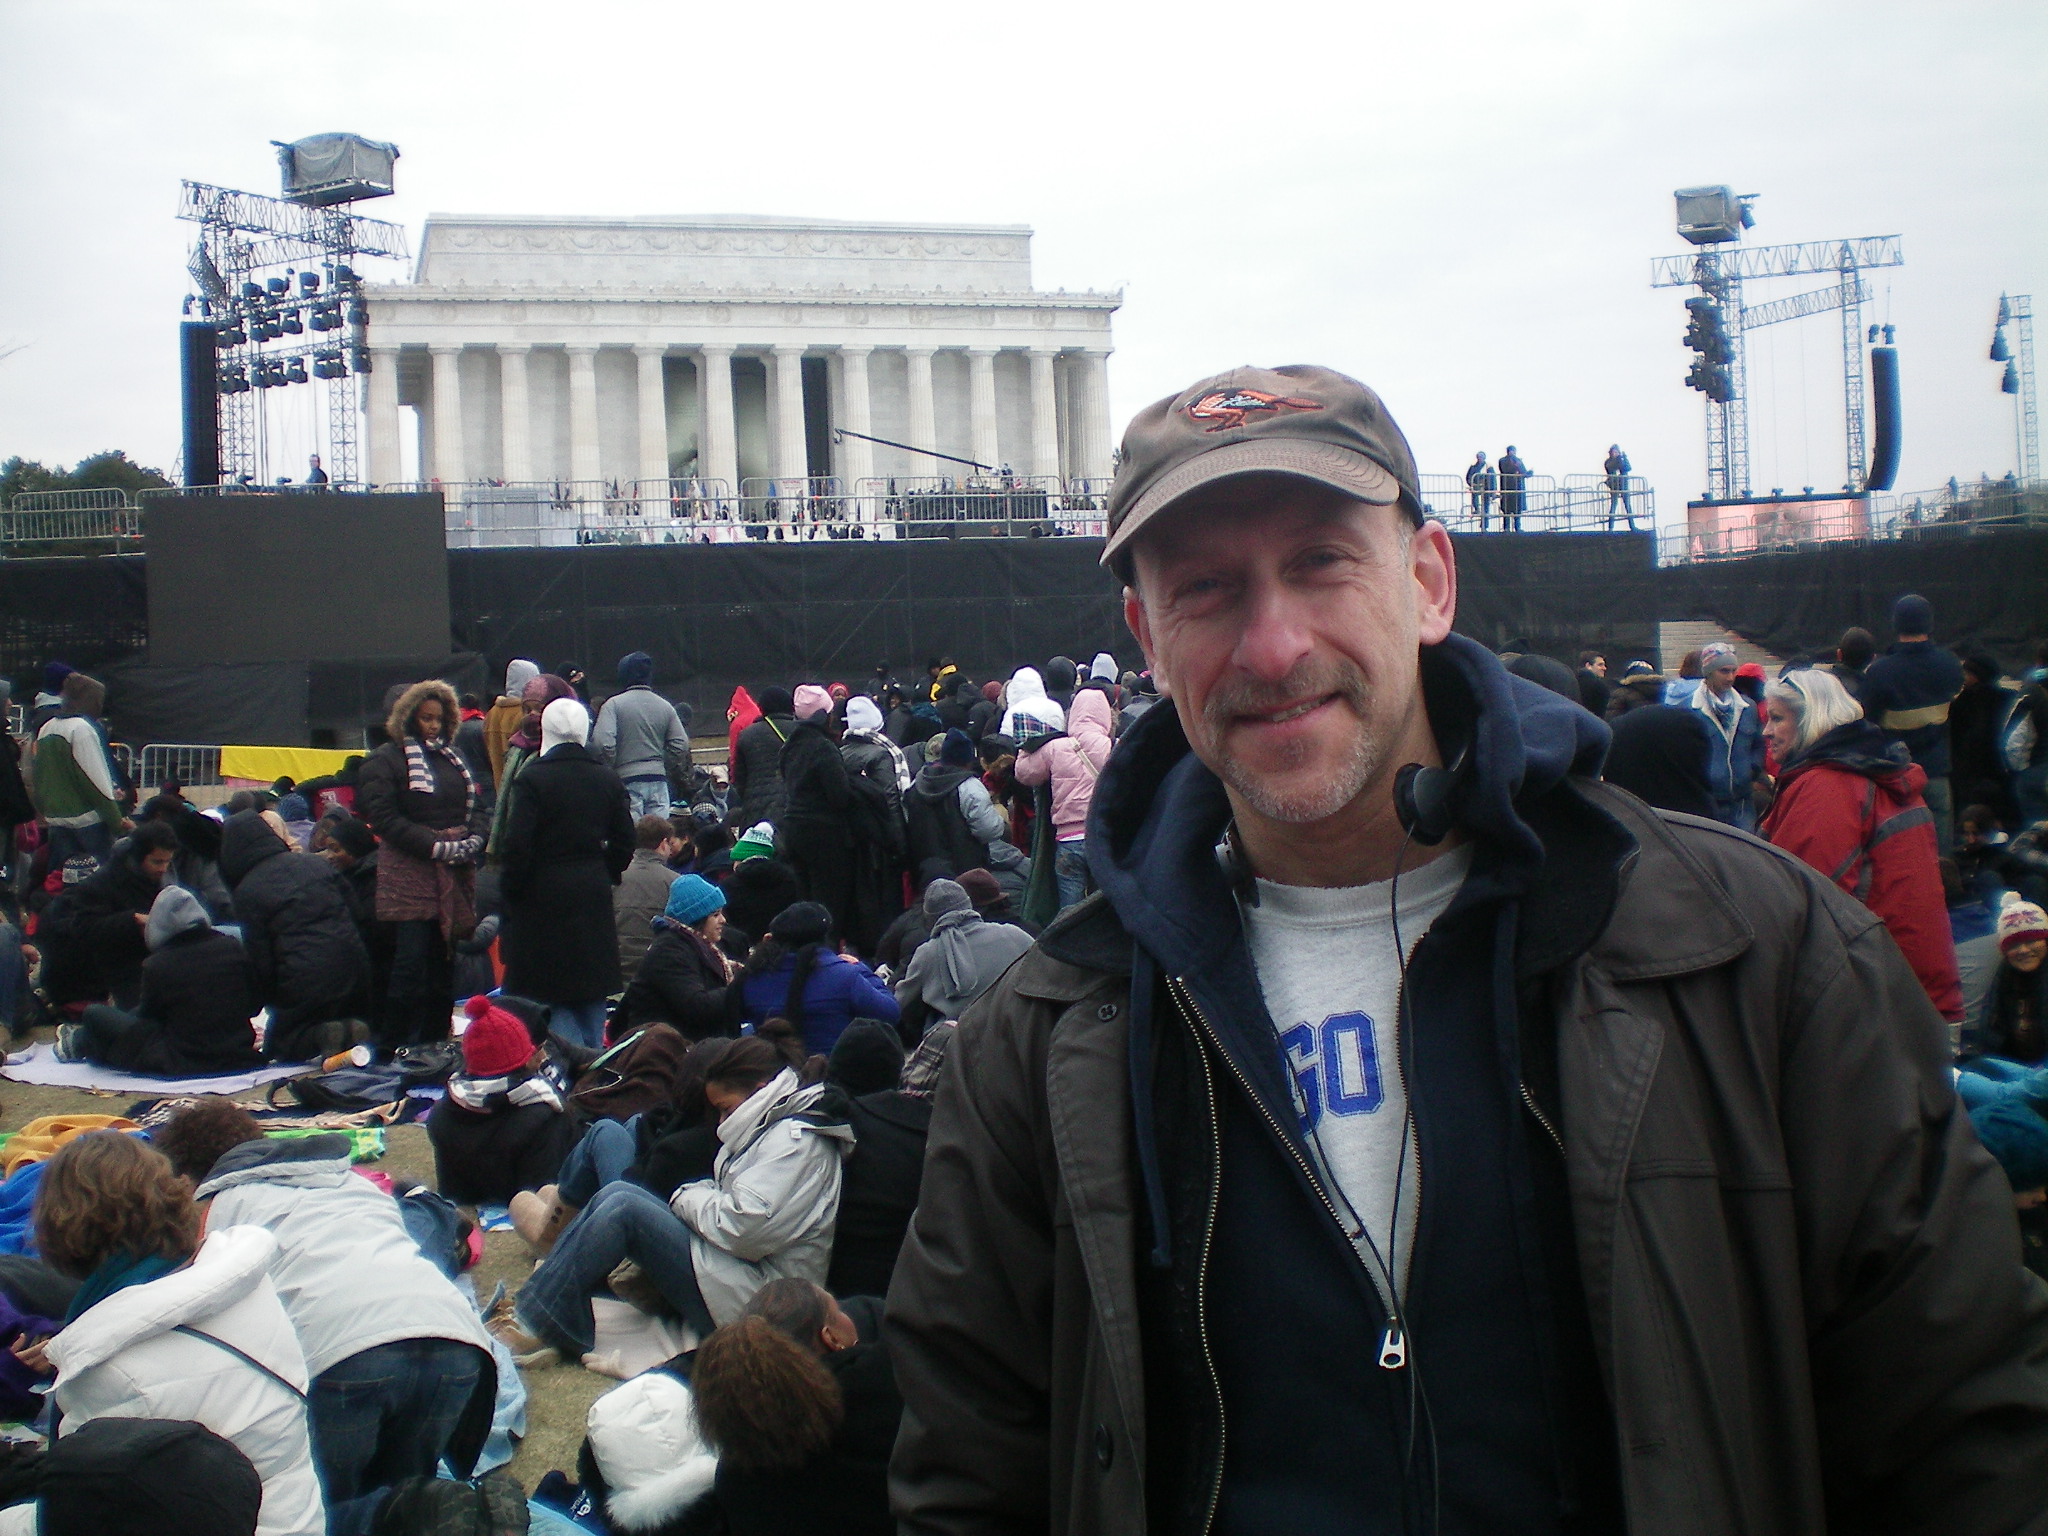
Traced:
[[328, 401], [322, 463], [336, 483], [358, 481], [369, 307], [356, 264], [406, 260], [406, 231], [346, 207], [201, 182], [184, 182], [178, 217], [199, 225], [186, 311], [213, 324], [221, 479], [270, 483], [262, 391], [317, 383]]

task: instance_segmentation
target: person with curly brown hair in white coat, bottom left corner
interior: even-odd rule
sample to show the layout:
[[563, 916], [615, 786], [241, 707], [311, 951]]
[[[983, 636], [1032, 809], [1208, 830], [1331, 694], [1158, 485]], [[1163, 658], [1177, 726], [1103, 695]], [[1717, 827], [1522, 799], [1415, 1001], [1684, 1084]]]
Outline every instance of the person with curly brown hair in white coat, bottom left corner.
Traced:
[[326, 1536], [307, 1436], [311, 1378], [276, 1288], [276, 1239], [215, 1225], [201, 1241], [190, 1186], [135, 1137], [96, 1130], [57, 1149], [35, 1198], [43, 1257], [84, 1284], [43, 1346], [66, 1432], [104, 1417], [188, 1419], [262, 1479], [258, 1536]]

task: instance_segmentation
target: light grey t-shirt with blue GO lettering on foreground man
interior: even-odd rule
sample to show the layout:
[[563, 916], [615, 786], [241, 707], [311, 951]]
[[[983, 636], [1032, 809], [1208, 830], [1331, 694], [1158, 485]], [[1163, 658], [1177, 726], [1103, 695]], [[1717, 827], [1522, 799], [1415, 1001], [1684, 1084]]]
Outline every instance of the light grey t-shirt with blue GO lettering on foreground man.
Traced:
[[[1401, 944], [1409, 954], [1458, 895], [1470, 862], [1468, 848], [1454, 848], [1401, 877]], [[1260, 881], [1257, 891], [1257, 905], [1245, 907], [1245, 932], [1303, 1135], [1337, 1219], [1391, 1303], [1389, 1272], [1405, 1290], [1421, 1208], [1421, 1151], [1415, 1137], [1403, 1137], [1393, 883], [1323, 889]]]

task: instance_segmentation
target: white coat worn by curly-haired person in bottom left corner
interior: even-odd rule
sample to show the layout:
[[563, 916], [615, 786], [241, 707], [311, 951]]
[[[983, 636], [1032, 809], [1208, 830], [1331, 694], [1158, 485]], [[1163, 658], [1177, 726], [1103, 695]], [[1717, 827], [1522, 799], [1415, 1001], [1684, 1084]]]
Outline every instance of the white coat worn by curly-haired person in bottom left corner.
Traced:
[[[61, 1430], [92, 1419], [190, 1419], [231, 1440], [262, 1479], [256, 1536], [326, 1536], [305, 1425], [305, 1356], [260, 1227], [217, 1227], [182, 1270], [117, 1290], [49, 1341]], [[297, 1393], [193, 1327], [274, 1370]]]

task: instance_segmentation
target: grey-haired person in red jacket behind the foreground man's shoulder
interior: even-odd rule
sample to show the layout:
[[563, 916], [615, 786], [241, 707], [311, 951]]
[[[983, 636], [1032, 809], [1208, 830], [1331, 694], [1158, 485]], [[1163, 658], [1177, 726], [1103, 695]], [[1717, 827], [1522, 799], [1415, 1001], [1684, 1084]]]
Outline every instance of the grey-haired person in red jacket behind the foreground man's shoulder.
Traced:
[[1921, 799], [1927, 774], [1827, 672], [1788, 672], [1763, 707], [1763, 735], [1784, 768], [1761, 836], [1878, 913], [1927, 999], [1960, 1026], [1956, 942], [1933, 813]]

